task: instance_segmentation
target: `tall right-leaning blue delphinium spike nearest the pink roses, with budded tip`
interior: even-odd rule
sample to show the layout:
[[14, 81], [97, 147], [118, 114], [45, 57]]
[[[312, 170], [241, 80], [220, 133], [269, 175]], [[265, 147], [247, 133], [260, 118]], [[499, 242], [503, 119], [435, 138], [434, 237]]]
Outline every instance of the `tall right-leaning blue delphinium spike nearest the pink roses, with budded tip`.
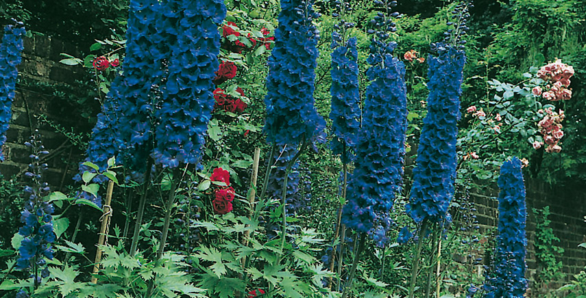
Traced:
[[463, 1], [452, 12], [455, 29], [445, 32], [443, 42], [432, 44], [437, 57], [428, 57], [428, 113], [424, 119], [413, 170], [411, 197], [406, 212], [416, 223], [441, 223], [454, 196], [456, 137], [460, 118], [460, 94], [465, 64], [463, 33], [467, 30], [469, 4]]

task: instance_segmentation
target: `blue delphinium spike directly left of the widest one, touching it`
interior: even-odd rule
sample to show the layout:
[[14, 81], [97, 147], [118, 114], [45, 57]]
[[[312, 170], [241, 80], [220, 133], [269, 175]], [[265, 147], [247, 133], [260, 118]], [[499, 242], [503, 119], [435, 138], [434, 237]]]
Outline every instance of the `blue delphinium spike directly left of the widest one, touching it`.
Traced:
[[153, 113], [159, 99], [156, 87], [164, 77], [163, 60], [169, 55], [163, 22], [158, 0], [130, 1], [123, 80], [112, 91], [119, 98], [121, 161], [137, 172], [144, 172], [152, 150]]

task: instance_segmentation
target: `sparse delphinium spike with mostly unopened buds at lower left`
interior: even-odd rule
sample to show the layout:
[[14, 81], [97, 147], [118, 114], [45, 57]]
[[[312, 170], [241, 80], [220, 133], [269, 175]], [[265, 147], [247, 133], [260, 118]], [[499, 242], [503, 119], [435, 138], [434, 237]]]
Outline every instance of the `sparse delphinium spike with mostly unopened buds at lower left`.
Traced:
[[[19, 248], [20, 258], [16, 261], [19, 269], [30, 269], [34, 277], [35, 286], [40, 282], [40, 277], [47, 277], [45, 258], [53, 259], [51, 243], [55, 241], [56, 235], [53, 232], [52, 204], [45, 202], [43, 198], [49, 194], [49, 185], [42, 182], [42, 172], [47, 170], [47, 164], [42, 163], [42, 157], [49, 154], [45, 147], [40, 144], [38, 131], [34, 132], [30, 141], [25, 145], [32, 149], [30, 155], [32, 162], [29, 164], [25, 176], [30, 179], [29, 186], [24, 189], [28, 195], [25, 201], [25, 208], [21, 212], [21, 222], [25, 224], [19, 230], [24, 237]], [[43, 269], [43, 267], [45, 267]], [[41, 275], [39, 275], [39, 271]]]

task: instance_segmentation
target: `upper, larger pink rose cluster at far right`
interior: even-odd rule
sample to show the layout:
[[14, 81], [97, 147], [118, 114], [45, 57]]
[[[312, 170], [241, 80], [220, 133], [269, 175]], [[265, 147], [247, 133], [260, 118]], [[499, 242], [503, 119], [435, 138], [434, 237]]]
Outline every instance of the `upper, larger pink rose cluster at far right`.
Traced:
[[537, 71], [537, 77], [548, 82], [546, 90], [536, 86], [531, 92], [535, 96], [541, 96], [550, 101], [568, 100], [572, 98], [572, 89], [567, 87], [570, 87], [570, 78], [573, 75], [574, 68], [562, 63], [561, 59], [557, 59]]

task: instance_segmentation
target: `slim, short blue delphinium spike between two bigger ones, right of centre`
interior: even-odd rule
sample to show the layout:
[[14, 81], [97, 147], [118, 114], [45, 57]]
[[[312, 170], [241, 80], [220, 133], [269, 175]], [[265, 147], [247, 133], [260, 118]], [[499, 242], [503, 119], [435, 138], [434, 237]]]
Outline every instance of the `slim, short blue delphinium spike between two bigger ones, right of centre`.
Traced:
[[[351, 11], [350, 3], [334, 2], [337, 11]], [[339, 16], [335, 13], [334, 17]], [[341, 19], [334, 25], [332, 32], [332, 152], [343, 154], [342, 161], [348, 163], [352, 159], [352, 152], [356, 146], [358, 129], [360, 128], [360, 92], [358, 91], [358, 51], [356, 38], [346, 40], [346, 31], [354, 27]]]

